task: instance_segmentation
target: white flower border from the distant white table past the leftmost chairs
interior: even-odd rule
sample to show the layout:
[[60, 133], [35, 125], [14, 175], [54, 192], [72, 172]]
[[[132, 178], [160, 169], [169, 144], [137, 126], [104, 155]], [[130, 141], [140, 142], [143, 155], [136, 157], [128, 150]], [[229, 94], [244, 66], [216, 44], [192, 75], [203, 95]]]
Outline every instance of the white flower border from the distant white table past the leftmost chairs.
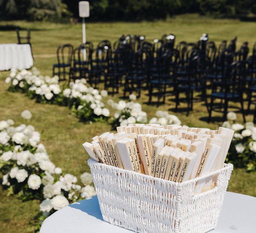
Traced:
[[101, 102], [102, 97], [107, 96], [107, 91], [99, 93], [97, 89], [87, 87], [86, 79], [71, 82], [69, 87], [60, 87], [57, 76], [42, 76], [33, 67], [32, 72], [22, 70], [17, 73], [16, 70], [11, 70], [10, 77], [5, 82], [10, 84], [9, 91], [26, 93], [38, 103], [68, 106], [74, 115], [84, 121], [108, 120], [109, 110]]

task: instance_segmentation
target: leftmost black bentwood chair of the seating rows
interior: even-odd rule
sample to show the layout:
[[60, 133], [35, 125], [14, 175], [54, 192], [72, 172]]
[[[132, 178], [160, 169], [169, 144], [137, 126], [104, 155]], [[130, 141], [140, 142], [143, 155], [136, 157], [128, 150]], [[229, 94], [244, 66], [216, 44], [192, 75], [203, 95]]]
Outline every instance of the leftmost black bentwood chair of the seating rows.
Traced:
[[74, 48], [71, 44], [60, 45], [57, 49], [58, 63], [53, 64], [52, 75], [58, 75], [60, 81], [66, 80], [66, 75], [69, 75], [73, 52]]

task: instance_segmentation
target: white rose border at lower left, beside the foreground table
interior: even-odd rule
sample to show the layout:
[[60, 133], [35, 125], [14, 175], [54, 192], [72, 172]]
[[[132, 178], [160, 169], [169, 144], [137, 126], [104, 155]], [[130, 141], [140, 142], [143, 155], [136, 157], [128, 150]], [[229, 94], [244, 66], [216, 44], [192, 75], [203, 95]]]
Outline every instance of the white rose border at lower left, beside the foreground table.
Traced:
[[[21, 116], [32, 117], [25, 110]], [[77, 184], [77, 177], [64, 174], [60, 167], [51, 162], [45, 146], [40, 142], [40, 133], [32, 125], [20, 124], [14, 127], [11, 119], [0, 121], [0, 171], [2, 185], [8, 195], [17, 194], [23, 201], [41, 201], [41, 214], [34, 229], [40, 229], [42, 221], [70, 203], [96, 195], [90, 184], [90, 173], [80, 176], [83, 186]], [[39, 221], [40, 220], [40, 221]]]

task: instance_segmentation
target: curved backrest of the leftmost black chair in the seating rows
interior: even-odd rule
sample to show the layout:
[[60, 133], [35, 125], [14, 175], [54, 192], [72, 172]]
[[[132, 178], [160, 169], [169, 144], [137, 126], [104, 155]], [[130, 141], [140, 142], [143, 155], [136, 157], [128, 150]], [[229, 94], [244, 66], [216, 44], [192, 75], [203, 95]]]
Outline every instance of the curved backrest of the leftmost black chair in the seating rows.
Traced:
[[71, 66], [71, 60], [74, 52], [74, 47], [71, 44], [60, 45], [57, 48], [58, 64], [66, 64]]

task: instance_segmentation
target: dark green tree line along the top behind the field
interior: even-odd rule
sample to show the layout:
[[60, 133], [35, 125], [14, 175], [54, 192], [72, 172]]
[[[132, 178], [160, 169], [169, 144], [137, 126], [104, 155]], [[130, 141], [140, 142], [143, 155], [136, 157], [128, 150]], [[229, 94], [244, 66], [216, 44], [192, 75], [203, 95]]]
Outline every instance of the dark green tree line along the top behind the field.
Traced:
[[[79, 18], [79, 0], [0, 0], [0, 18], [68, 21]], [[217, 17], [256, 15], [255, 0], [92, 0], [90, 21], [166, 19], [182, 13]]]

